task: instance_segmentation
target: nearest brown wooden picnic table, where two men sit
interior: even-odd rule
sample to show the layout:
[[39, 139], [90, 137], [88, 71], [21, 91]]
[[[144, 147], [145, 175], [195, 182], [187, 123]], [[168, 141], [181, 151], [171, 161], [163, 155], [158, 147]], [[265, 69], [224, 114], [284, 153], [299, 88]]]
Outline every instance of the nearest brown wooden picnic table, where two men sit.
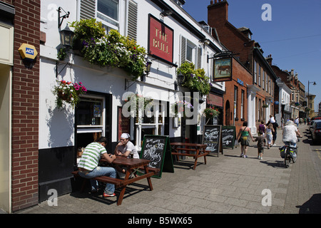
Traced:
[[[100, 162], [107, 162], [107, 160], [102, 158], [100, 160]], [[149, 186], [150, 190], [153, 190], [153, 185], [151, 183], [151, 176], [155, 175], [155, 173], [158, 172], [158, 170], [151, 169], [150, 167], [148, 167], [149, 162], [151, 162], [151, 161], [145, 160], [145, 159], [127, 158], [127, 157], [117, 156], [116, 160], [113, 161], [113, 165], [120, 165], [120, 166], [126, 167], [126, 175], [123, 180], [113, 178], [113, 177], [106, 177], [106, 176], [95, 177], [93, 179], [101, 181], [101, 182], [105, 182], [105, 183], [111, 183], [111, 184], [115, 185], [115, 188], [121, 187], [121, 194], [119, 195], [118, 202], [117, 202], [117, 205], [121, 205], [127, 185], [129, 185], [133, 182], [136, 182], [138, 180], [142, 180], [143, 178], [147, 178], [148, 186]], [[135, 177], [130, 179], [129, 177], [131, 175], [131, 170], [135, 170], [140, 167], [141, 168], [143, 167], [144, 174], [143, 175], [136, 175]], [[78, 175], [78, 171], [74, 171], [72, 173], [73, 173], [73, 175]]]

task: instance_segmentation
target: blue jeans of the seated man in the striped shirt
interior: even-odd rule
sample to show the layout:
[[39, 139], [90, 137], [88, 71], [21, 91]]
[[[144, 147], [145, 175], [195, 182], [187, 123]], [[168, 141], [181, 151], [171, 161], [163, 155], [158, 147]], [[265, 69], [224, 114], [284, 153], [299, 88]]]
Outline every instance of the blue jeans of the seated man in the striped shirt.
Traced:
[[[93, 171], [91, 172], [78, 172], [79, 176], [91, 179], [93, 177], [100, 177], [100, 176], [107, 176], [107, 177], [113, 177], [116, 178], [117, 172], [113, 167], [100, 167], [97, 166]], [[91, 179], [91, 190], [97, 190], [98, 189], [98, 182], [96, 180]], [[104, 190], [106, 194], [113, 194], [115, 192], [115, 185], [106, 184], [106, 188]]]

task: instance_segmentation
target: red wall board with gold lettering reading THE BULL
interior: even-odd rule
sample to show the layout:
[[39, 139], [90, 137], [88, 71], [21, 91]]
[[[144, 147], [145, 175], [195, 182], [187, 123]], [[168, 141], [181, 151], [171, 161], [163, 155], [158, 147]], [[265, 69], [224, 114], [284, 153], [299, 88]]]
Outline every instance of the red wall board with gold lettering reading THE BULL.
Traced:
[[162, 21], [159, 21], [151, 14], [149, 14], [148, 26], [148, 52], [153, 56], [173, 63], [173, 29], [163, 24]]

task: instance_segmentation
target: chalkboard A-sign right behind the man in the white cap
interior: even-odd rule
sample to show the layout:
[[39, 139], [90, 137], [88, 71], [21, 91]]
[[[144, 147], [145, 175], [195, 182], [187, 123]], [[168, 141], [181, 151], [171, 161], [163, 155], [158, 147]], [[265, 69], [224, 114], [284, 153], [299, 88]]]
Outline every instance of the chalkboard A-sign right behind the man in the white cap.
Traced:
[[153, 177], [161, 178], [162, 172], [174, 172], [168, 136], [144, 135], [141, 159], [151, 160], [148, 167], [160, 169]]

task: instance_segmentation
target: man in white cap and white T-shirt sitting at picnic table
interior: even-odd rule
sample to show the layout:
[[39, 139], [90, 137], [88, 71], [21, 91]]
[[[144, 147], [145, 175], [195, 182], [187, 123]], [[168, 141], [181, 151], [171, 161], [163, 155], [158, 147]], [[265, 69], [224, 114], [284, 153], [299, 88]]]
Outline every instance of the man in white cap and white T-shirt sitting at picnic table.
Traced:
[[139, 158], [135, 145], [133, 145], [133, 142], [129, 140], [128, 133], [121, 134], [121, 142], [118, 142], [118, 144], [116, 145], [114, 154], [116, 156], [123, 156], [128, 158], [133, 155], [133, 158]]

